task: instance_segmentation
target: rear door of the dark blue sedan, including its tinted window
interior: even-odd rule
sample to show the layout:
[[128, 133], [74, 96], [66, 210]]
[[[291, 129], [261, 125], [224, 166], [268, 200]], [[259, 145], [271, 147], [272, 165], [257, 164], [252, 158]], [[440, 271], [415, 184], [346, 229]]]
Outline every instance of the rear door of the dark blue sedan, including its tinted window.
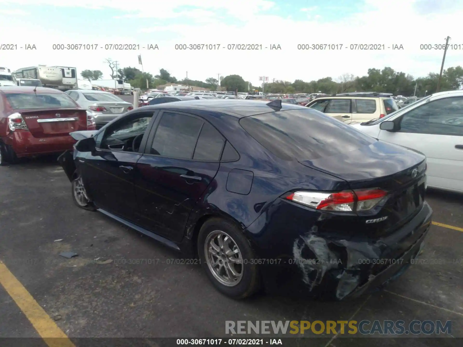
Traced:
[[190, 212], [217, 174], [224, 144], [202, 118], [162, 112], [137, 162], [137, 223], [180, 242]]

